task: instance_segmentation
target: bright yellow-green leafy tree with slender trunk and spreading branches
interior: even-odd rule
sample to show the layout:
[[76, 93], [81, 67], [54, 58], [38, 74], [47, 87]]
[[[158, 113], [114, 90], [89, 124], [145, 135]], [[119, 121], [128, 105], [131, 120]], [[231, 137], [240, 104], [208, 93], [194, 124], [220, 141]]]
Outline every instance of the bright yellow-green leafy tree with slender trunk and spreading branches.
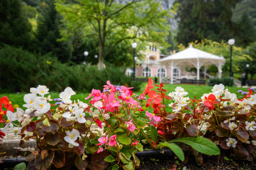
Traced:
[[[166, 30], [164, 16], [169, 14], [154, 0], [56, 0], [55, 5], [66, 24], [61, 32], [62, 40], [79, 30], [87, 40], [96, 41], [99, 69], [103, 68], [103, 61], [110, 52], [124, 40], [137, 38], [166, 44], [166, 32], [154, 29]], [[138, 33], [140, 37], [137, 37]]]

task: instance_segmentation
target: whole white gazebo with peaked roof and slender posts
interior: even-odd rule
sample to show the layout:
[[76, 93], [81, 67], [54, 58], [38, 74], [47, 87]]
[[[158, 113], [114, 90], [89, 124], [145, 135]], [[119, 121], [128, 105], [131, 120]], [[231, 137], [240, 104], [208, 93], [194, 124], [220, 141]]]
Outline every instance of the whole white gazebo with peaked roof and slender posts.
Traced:
[[[186, 68], [196, 68], [197, 69], [197, 80], [199, 80], [199, 70], [202, 66], [207, 65], [216, 65], [218, 68], [218, 77], [221, 78], [222, 74], [222, 65], [225, 63], [225, 58], [223, 56], [217, 56], [210, 54], [208, 52], [204, 52], [202, 50], [198, 50], [192, 45], [189, 45], [189, 48], [177, 52], [173, 55], [165, 57], [159, 60], [161, 66], [171, 66], [171, 84], [173, 84], [173, 69], [174, 67], [186, 67]], [[205, 67], [206, 72], [206, 67]], [[160, 81], [161, 81], [160, 77]]]

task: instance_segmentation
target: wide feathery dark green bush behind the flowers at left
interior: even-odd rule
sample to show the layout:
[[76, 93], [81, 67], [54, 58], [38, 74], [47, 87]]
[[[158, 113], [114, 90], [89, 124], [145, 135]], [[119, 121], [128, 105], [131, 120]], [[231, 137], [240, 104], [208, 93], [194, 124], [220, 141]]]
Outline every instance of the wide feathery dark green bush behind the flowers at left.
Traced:
[[40, 55], [11, 46], [0, 50], [0, 90], [4, 92], [25, 92], [38, 84], [46, 85], [52, 91], [72, 87], [80, 92], [90, 92], [92, 88], [102, 89], [107, 80], [114, 85], [135, 87], [140, 90], [141, 82], [133, 82], [125, 75], [124, 67], [108, 65], [103, 70], [96, 66], [62, 64], [51, 53]]

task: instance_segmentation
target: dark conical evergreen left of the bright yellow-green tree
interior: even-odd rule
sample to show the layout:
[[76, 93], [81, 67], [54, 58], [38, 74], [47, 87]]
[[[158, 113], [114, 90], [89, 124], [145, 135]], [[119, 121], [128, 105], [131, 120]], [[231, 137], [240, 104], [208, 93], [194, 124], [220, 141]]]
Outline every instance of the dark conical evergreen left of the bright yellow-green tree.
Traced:
[[69, 42], [58, 41], [61, 38], [61, 16], [56, 11], [54, 6], [54, 0], [45, 0], [40, 4], [41, 8], [38, 8], [38, 27], [36, 32], [36, 38], [33, 40], [33, 46], [31, 50], [36, 50], [42, 54], [52, 52], [62, 62], [67, 62], [71, 59], [71, 45]]

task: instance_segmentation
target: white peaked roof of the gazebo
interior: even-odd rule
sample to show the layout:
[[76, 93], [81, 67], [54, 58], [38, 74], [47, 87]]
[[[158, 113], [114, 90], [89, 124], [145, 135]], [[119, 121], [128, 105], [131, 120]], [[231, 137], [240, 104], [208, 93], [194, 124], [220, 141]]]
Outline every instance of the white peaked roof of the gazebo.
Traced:
[[200, 67], [205, 65], [216, 65], [218, 67], [219, 63], [225, 63], [224, 57], [198, 50], [192, 47], [192, 45], [185, 50], [159, 60], [159, 62], [163, 65], [170, 65], [173, 62], [174, 67], [178, 65], [183, 67], [197, 67], [197, 60], [200, 62]]

